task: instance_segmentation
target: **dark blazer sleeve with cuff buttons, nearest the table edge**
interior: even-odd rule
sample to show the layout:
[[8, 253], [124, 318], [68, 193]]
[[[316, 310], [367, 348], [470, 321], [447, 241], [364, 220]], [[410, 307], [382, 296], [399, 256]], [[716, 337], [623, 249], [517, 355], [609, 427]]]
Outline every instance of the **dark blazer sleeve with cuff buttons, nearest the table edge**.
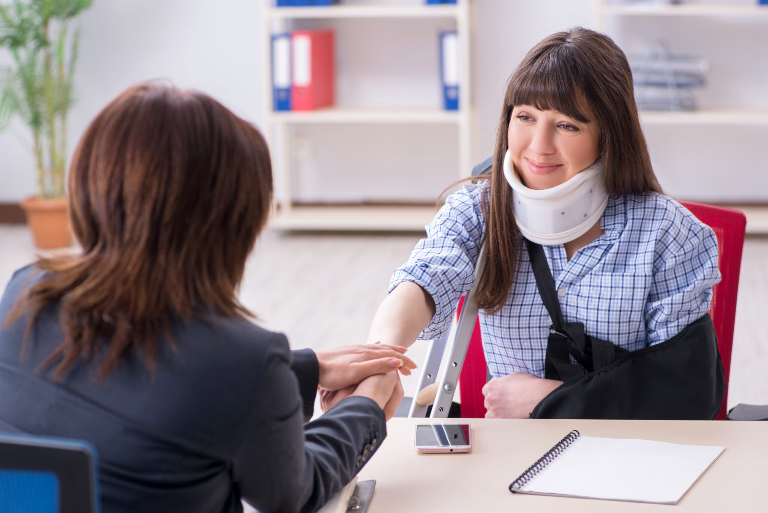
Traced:
[[274, 334], [233, 457], [233, 480], [263, 513], [316, 511], [359, 472], [386, 436], [384, 412], [349, 397], [303, 423], [299, 380], [285, 336]]

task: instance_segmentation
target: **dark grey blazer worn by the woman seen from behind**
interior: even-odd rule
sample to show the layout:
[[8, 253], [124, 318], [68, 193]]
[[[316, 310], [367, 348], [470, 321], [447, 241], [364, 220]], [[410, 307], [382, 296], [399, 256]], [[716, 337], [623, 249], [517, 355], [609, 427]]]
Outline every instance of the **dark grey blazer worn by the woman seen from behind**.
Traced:
[[[0, 323], [32, 271], [12, 277]], [[292, 355], [285, 336], [243, 320], [175, 320], [177, 350], [162, 344], [154, 376], [127, 356], [105, 382], [84, 362], [57, 382], [35, 371], [61, 343], [57, 312], [42, 310], [22, 361], [27, 318], [0, 327], [0, 431], [95, 445], [105, 513], [229, 513], [241, 498], [265, 512], [314, 511], [386, 436], [384, 412], [364, 397], [305, 424], [314, 353]]]

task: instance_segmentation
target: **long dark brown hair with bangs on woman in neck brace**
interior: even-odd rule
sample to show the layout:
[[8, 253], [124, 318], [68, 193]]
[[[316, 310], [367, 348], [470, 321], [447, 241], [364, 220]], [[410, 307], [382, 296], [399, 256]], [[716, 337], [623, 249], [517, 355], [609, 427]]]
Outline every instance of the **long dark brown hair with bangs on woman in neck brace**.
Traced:
[[[611, 197], [661, 192], [650, 165], [634, 101], [632, 72], [621, 48], [607, 35], [576, 27], [557, 32], [528, 51], [509, 78], [498, 123], [490, 197], [484, 204], [488, 257], [478, 278], [478, 305], [495, 313], [507, 301], [518, 270], [520, 236], [512, 191], [502, 163], [515, 105], [561, 111], [577, 121], [596, 121], [599, 157]], [[588, 111], [593, 119], [588, 117]]]

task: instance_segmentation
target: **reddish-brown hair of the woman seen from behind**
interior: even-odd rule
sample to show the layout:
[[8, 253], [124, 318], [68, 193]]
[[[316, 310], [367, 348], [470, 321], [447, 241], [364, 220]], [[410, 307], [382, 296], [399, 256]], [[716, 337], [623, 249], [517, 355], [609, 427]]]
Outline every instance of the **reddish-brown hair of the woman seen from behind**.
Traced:
[[[74, 153], [69, 212], [82, 251], [44, 273], [8, 323], [58, 301], [65, 338], [41, 364], [61, 377], [100, 353], [105, 379], [135, 352], [152, 368], [172, 318], [250, 316], [235, 296], [269, 217], [272, 170], [255, 127], [197, 91], [141, 84], [91, 122]], [[22, 349], [23, 356], [23, 349]]]

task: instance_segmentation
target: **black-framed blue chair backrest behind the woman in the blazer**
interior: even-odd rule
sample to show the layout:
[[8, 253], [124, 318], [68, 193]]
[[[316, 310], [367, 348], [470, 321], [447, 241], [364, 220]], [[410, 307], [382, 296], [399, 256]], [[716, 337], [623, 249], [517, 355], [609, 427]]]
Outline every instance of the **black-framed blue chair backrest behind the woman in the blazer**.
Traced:
[[86, 442], [0, 433], [0, 511], [98, 513], [96, 460]]

